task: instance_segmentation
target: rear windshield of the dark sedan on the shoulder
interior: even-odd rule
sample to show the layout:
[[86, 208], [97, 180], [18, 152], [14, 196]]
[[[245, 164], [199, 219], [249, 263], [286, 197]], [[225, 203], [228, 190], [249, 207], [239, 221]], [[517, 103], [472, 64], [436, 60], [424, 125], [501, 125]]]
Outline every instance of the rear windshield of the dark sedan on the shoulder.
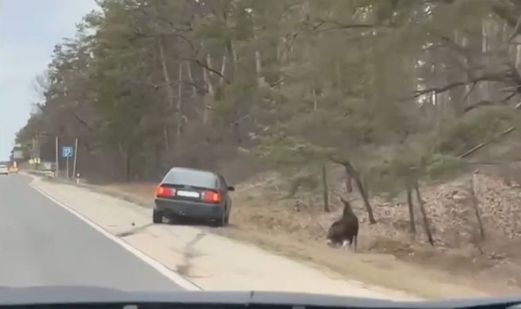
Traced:
[[163, 182], [170, 185], [189, 185], [217, 189], [219, 180], [209, 171], [196, 171], [193, 169], [171, 169]]

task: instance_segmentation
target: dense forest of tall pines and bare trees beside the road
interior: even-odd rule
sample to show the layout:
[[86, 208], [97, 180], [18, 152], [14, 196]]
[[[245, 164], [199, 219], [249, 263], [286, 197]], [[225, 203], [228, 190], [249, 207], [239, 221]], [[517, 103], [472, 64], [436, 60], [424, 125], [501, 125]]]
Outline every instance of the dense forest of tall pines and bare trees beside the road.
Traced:
[[77, 138], [93, 181], [249, 156], [295, 175], [338, 164], [366, 197], [518, 131], [519, 1], [97, 3], [35, 77], [16, 137], [49, 161]]

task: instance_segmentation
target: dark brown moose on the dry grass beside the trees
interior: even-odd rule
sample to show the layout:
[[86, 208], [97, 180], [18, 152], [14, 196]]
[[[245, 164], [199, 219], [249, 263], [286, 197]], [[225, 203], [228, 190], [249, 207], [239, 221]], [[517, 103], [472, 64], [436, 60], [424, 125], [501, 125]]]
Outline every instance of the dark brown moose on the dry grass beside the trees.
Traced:
[[340, 245], [346, 247], [351, 245], [356, 251], [356, 243], [358, 238], [358, 217], [354, 214], [349, 202], [342, 197], [339, 197], [342, 204], [344, 204], [344, 211], [342, 218], [333, 222], [329, 231], [327, 232], [327, 245], [330, 247]]

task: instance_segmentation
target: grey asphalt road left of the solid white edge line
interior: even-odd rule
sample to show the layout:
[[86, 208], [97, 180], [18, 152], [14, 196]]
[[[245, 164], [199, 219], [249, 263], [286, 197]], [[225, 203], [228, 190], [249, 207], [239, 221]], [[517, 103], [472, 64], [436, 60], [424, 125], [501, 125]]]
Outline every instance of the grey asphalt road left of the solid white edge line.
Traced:
[[29, 182], [0, 175], [0, 286], [182, 289]]

